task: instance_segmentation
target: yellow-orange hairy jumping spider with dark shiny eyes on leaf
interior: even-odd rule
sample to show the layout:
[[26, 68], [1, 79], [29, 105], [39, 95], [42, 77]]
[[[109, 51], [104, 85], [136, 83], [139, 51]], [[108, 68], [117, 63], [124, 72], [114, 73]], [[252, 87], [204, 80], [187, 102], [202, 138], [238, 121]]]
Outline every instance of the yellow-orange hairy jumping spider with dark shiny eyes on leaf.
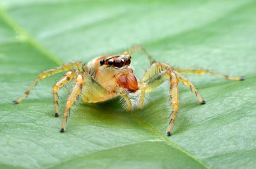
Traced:
[[[143, 51], [151, 61], [151, 67], [146, 71], [139, 82], [136, 80], [131, 65], [131, 54], [137, 50]], [[129, 96], [132, 94], [139, 94], [138, 108], [140, 110], [144, 103], [145, 93], [151, 92], [151, 90], [158, 87], [165, 80], [170, 80], [170, 98], [173, 106], [173, 112], [170, 114], [172, 115], [172, 118], [167, 130], [167, 134], [170, 135], [179, 108], [178, 82], [189, 86], [190, 89], [192, 89], [192, 92], [194, 92], [199, 99], [200, 104], [206, 104], [206, 101], [202, 99], [202, 96], [197, 92], [197, 89], [194, 87], [192, 82], [187, 80], [182, 73], [196, 75], [210, 74], [224, 77], [228, 80], [245, 80], [244, 77], [229, 77], [228, 75], [221, 75], [205, 69], [192, 70], [173, 68], [165, 63], [156, 62], [156, 60], [153, 59], [141, 45], [136, 45], [131, 50], [124, 51], [121, 55], [100, 56], [98, 58], [94, 58], [86, 65], [83, 65], [80, 61], [76, 61], [66, 63], [51, 70], [43, 71], [38, 75], [35, 82], [33, 82], [25, 94], [16, 101], [13, 101], [13, 104], [19, 104], [26, 96], [28, 96], [31, 89], [33, 89], [41, 79], [62, 71], [67, 72], [64, 77], [62, 77], [62, 79], [52, 87], [56, 117], [59, 116], [57, 97], [58, 90], [73, 79], [76, 83], [66, 100], [60, 132], [65, 131], [69, 110], [79, 94], [81, 94], [81, 99], [85, 103], [97, 103], [121, 96], [125, 101], [127, 111], [132, 111], [132, 101]]]

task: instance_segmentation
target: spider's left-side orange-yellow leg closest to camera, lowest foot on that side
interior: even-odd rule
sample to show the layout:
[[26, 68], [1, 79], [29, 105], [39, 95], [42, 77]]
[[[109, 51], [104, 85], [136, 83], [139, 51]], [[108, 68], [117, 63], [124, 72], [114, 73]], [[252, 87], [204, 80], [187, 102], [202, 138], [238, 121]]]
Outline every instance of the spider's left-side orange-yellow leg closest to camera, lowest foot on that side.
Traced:
[[82, 87], [83, 87], [83, 74], [80, 74], [76, 77], [76, 84], [74, 85], [71, 93], [69, 94], [68, 99], [66, 100], [66, 106], [64, 109], [64, 115], [62, 120], [62, 129], [60, 130], [61, 132], [65, 131], [66, 120], [69, 115], [70, 107], [76, 101], [76, 98], [81, 92]]

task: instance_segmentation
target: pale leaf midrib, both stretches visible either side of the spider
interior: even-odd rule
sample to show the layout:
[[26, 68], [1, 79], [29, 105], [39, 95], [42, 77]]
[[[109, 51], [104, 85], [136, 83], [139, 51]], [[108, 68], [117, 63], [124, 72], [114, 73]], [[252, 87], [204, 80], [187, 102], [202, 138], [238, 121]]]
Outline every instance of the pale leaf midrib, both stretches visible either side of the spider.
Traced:
[[[38, 51], [41, 51], [42, 54], [44, 54], [45, 56], [47, 56], [48, 58], [50, 58], [52, 61], [54, 61], [55, 63], [57, 63], [58, 65], [62, 65], [62, 61], [57, 58], [56, 56], [54, 56], [54, 54], [52, 54], [50, 51], [48, 51], [47, 49], [45, 49], [44, 46], [40, 45], [38, 42], [35, 41], [35, 39], [33, 39], [33, 37], [31, 37], [28, 32], [26, 32], [25, 30], [23, 30], [23, 28], [18, 25], [18, 23], [16, 23], [15, 20], [13, 20], [13, 18], [11, 18], [10, 15], [8, 15], [8, 13], [6, 13], [6, 11], [4, 10], [4, 8], [1, 6], [0, 4], [0, 15], [2, 16], [2, 18], [5, 20], [5, 22], [11, 26], [13, 28], [13, 30], [16, 30], [16, 32], [18, 32], [21, 37], [23, 37], [25, 39], [25, 42], [30, 43], [32, 46], [35, 47], [35, 49], [37, 49]], [[198, 158], [192, 156], [192, 154], [190, 154], [189, 152], [185, 151], [185, 149], [182, 149], [180, 146], [178, 146], [178, 144], [175, 144], [174, 142], [171, 142], [169, 139], [167, 139], [163, 134], [161, 134], [160, 132], [158, 132], [156, 129], [154, 129], [153, 127], [151, 127], [151, 125], [145, 123], [143, 120], [141, 120], [140, 118], [137, 118], [133, 113], [129, 113], [127, 112], [127, 114], [129, 114], [130, 116], [132, 116], [132, 118], [134, 118], [136, 121], [138, 121], [139, 123], [141, 123], [142, 125], [144, 125], [148, 130], [150, 130], [151, 132], [153, 132], [154, 134], [158, 135], [158, 137], [160, 137], [160, 139], [163, 139], [163, 141], [167, 142], [168, 144], [170, 144], [171, 146], [173, 146], [173, 148], [178, 149], [180, 152], [182, 152], [183, 154], [185, 154], [186, 156], [189, 156], [190, 158], [193, 158], [194, 161], [197, 161], [198, 163], [200, 163], [201, 165], [203, 165], [205, 168], [209, 168], [209, 166], [207, 166], [206, 164], [202, 163], [202, 161], [200, 161]], [[136, 144], [136, 143], [135, 143]], [[125, 145], [122, 145], [125, 146]], [[112, 148], [116, 148], [116, 147], [111, 147]], [[95, 153], [95, 152], [94, 152]]]

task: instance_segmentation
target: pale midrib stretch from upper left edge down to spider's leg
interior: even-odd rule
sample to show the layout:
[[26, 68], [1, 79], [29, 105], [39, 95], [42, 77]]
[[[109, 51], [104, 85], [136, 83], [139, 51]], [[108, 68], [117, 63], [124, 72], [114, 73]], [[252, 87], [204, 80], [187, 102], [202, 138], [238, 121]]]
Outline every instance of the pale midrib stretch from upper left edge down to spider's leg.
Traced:
[[4, 10], [3, 6], [1, 6], [1, 4], [0, 4], [0, 15], [4, 19], [4, 21], [10, 27], [13, 28], [13, 30], [15, 30], [16, 32], [18, 32], [19, 35], [21, 35], [21, 37], [25, 40], [25, 42], [30, 43], [32, 46], [35, 47], [35, 49], [42, 52], [42, 54], [44, 54], [45, 56], [50, 58], [52, 61], [57, 63], [57, 65], [62, 65], [63, 64], [62, 61], [59, 58], [55, 57], [50, 51], [45, 49], [45, 47], [43, 47], [38, 42], [36, 42], [35, 39], [33, 39], [33, 37], [31, 37], [28, 34], [28, 32], [23, 30], [23, 28], [20, 25], [18, 25], [18, 23], [16, 23], [16, 21], [13, 20], [13, 18], [11, 18], [10, 15], [8, 15], [8, 13], [6, 13], [6, 11]]

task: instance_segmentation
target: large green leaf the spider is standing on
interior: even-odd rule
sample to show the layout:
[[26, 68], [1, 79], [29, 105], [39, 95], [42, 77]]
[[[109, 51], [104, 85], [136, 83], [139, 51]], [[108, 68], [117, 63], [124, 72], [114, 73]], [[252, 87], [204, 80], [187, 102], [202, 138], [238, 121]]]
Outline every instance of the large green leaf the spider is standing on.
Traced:
[[[255, 167], [255, 1], [2, 0], [0, 7], [0, 168]], [[124, 111], [118, 99], [79, 101], [64, 133], [52, 99], [63, 73], [12, 104], [42, 70], [121, 54], [135, 44], [175, 67], [246, 80], [186, 75], [206, 105], [179, 85], [170, 137], [168, 82], [148, 94], [141, 111]], [[138, 79], [149, 68], [141, 51], [132, 64]], [[59, 92], [61, 112], [68, 86]]]

